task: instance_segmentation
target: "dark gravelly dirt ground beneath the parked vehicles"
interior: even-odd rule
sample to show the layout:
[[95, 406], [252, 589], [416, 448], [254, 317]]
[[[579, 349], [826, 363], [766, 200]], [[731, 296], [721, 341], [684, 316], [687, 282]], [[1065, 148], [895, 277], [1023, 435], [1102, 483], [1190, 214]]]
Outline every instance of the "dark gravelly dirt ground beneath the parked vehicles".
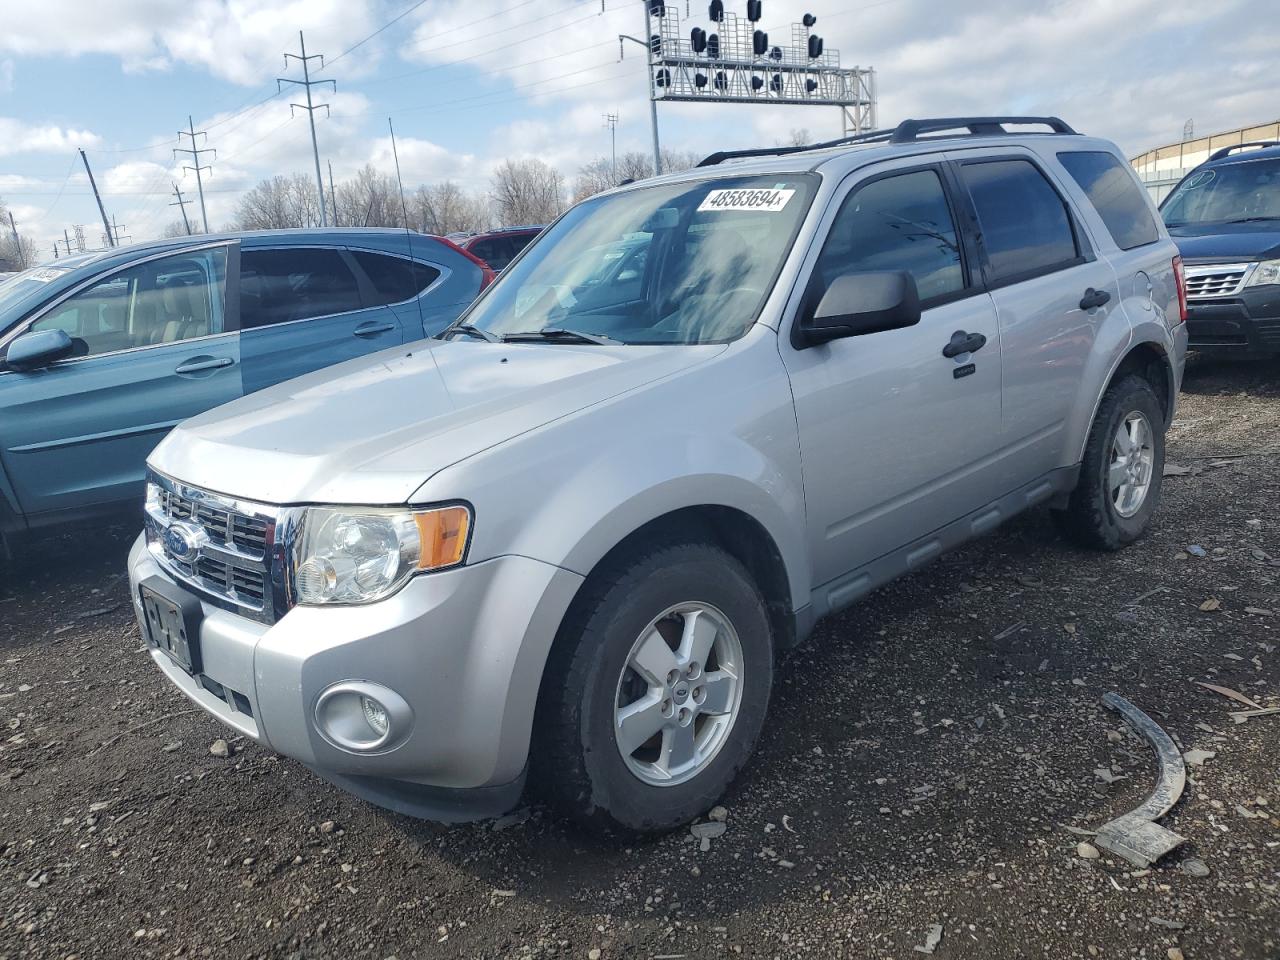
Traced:
[[[1193, 361], [1169, 460], [1120, 554], [1039, 511], [823, 622], [707, 851], [215, 756], [141, 648], [127, 531], [41, 543], [0, 586], [0, 956], [908, 959], [938, 924], [937, 957], [1277, 957], [1280, 714], [1194, 681], [1280, 705], [1280, 366]], [[1108, 690], [1208, 751], [1152, 870], [1062, 826], [1155, 780]]]

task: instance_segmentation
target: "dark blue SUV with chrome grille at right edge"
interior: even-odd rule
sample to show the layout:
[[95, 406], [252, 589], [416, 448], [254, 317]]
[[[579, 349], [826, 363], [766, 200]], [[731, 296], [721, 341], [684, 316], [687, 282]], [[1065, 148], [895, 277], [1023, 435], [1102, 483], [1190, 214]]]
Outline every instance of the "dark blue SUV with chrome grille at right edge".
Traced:
[[1160, 205], [1199, 351], [1280, 355], [1280, 142], [1225, 147]]

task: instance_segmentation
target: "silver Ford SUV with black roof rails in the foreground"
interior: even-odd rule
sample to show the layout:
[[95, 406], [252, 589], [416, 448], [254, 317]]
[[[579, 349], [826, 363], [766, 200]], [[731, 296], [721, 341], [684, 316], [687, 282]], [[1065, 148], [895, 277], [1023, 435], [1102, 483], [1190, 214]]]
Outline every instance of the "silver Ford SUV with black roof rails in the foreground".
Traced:
[[818, 618], [1034, 504], [1139, 538], [1184, 317], [1124, 157], [1056, 118], [717, 154], [579, 204], [438, 338], [174, 430], [137, 614], [192, 700], [376, 804], [527, 780], [671, 828]]

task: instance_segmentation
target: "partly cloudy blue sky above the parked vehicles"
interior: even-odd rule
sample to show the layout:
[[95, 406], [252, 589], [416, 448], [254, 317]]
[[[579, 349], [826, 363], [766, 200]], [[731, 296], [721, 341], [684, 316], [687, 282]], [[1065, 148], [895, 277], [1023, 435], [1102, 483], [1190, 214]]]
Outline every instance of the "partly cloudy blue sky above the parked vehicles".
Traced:
[[[179, 218], [174, 159], [191, 116], [210, 227], [264, 177], [314, 175], [300, 87], [303, 31], [317, 78], [320, 160], [338, 180], [366, 163], [393, 173], [396, 124], [406, 186], [453, 179], [485, 189], [507, 157], [539, 157], [571, 182], [617, 148], [650, 150], [644, 0], [0, 0], [0, 200], [44, 256], [63, 230], [101, 221], [77, 148], [120, 234], [150, 239]], [[873, 67], [879, 125], [908, 116], [1056, 114], [1128, 155], [1197, 133], [1275, 120], [1280, 32], [1271, 0], [764, 0], [777, 42], [804, 13], [845, 67]], [[669, 0], [668, 0], [669, 3]], [[709, 26], [707, 4], [669, 3]], [[745, 12], [745, 0], [726, 6]], [[741, 8], [741, 9], [740, 9]], [[686, 9], [689, 15], [686, 17]], [[1274, 10], [1272, 10], [1274, 12]], [[1257, 28], [1249, 28], [1254, 23]], [[772, 146], [805, 129], [840, 136], [833, 106], [659, 104], [664, 147]], [[191, 165], [186, 157], [186, 165]], [[198, 223], [196, 205], [187, 207]]]

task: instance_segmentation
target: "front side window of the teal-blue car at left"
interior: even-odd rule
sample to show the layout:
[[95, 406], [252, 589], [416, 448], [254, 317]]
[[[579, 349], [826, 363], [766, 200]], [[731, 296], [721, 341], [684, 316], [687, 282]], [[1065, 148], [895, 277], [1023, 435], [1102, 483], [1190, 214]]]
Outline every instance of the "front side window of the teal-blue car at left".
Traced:
[[227, 248], [211, 247], [119, 270], [59, 303], [32, 330], [65, 330], [91, 357], [223, 333]]

